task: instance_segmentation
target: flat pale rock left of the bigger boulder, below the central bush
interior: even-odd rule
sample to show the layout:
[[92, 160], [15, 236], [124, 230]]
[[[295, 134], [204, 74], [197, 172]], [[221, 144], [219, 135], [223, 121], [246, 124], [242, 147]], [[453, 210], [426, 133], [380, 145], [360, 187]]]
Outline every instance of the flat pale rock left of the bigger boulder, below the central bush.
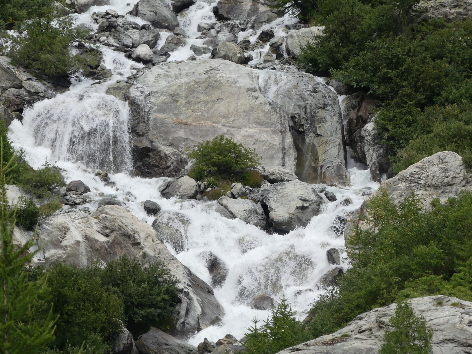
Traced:
[[232, 199], [225, 195], [218, 199], [218, 203], [237, 219], [258, 228], [266, 226], [266, 216], [261, 205], [256, 204], [251, 199]]

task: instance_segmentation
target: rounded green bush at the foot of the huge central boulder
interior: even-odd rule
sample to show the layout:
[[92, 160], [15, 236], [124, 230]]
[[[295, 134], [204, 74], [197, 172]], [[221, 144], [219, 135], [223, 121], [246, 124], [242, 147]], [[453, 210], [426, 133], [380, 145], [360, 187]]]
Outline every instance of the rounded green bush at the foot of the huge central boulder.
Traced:
[[253, 149], [246, 149], [224, 135], [197, 143], [189, 149], [188, 158], [195, 159], [193, 173], [198, 176], [235, 176], [255, 168], [262, 159]]

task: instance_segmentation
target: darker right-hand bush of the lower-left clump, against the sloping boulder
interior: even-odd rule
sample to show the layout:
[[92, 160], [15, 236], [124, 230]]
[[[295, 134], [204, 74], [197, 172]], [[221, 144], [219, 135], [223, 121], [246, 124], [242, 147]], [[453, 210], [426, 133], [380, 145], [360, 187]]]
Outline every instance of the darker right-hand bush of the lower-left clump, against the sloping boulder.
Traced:
[[135, 336], [151, 326], [170, 329], [171, 312], [179, 302], [176, 279], [160, 262], [145, 263], [126, 255], [107, 263], [101, 272], [104, 287], [118, 291], [126, 328]]

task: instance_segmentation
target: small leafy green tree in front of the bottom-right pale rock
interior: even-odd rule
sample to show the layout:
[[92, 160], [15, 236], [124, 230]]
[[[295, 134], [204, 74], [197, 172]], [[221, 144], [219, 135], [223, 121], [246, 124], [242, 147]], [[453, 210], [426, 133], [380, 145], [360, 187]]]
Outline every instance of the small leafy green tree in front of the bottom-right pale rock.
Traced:
[[407, 301], [397, 303], [395, 315], [388, 320], [379, 354], [430, 354], [433, 331], [426, 328], [423, 316], [416, 316]]

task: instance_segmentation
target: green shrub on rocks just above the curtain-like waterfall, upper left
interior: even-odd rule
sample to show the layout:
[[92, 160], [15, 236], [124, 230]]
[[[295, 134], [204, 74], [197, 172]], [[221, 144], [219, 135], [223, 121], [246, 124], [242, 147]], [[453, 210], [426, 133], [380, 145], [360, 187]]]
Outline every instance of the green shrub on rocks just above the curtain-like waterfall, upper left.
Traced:
[[73, 54], [69, 47], [83, 42], [87, 31], [74, 27], [69, 17], [46, 14], [16, 25], [19, 33], [11, 36], [6, 53], [12, 64], [25, 67], [36, 75], [68, 77], [87, 66], [97, 64], [94, 51]]

